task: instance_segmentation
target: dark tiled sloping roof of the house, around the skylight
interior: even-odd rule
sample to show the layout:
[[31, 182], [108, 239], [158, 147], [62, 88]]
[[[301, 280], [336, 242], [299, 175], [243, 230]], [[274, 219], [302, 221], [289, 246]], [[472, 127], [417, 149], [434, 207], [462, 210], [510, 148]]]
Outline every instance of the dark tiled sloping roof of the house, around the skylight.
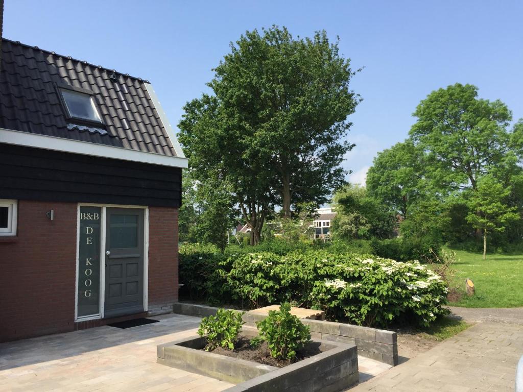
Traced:
[[[93, 92], [105, 126], [66, 118], [56, 87], [67, 85]], [[141, 78], [2, 39], [0, 128], [177, 156], [149, 91]]]

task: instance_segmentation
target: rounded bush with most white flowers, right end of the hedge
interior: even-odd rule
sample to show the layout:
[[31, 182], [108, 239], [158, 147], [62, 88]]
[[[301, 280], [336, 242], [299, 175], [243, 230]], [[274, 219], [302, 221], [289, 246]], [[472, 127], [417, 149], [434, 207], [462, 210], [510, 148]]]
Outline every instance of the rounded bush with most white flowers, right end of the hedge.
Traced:
[[319, 279], [310, 303], [329, 319], [386, 326], [408, 321], [428, 326], [447, 313], [447, 285], [419, 262], [358, 255], [328, 255], [316, 260]]

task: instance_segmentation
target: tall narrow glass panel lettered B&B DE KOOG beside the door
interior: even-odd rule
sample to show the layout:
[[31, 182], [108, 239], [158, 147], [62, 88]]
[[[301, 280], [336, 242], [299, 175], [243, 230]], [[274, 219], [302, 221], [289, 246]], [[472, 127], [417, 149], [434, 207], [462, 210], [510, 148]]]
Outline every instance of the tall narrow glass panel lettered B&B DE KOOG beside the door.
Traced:
[[100, 313], [101, 207], [80, 207], [78, 317]]

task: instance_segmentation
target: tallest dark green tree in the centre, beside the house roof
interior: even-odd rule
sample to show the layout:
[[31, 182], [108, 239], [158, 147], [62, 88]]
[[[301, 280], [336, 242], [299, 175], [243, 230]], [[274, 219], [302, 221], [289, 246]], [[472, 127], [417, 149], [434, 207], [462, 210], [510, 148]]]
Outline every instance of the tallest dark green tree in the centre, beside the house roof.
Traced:
[[294, 39], [277, 27], [246, 32], [214, 71], [213, 95], [184, 107], [179, 139], [200, 178], [231, 184], [256, 243], [275, 205], [290, 217], [344, 182], [354, 72], [325, 31]]

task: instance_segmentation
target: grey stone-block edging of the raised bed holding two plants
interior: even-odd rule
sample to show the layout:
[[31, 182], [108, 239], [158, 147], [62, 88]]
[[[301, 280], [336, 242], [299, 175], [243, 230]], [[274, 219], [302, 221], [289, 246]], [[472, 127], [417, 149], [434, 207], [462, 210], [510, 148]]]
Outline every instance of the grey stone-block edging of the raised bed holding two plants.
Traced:
[[319, 344], [319, 354], [285, 367], [275, 367], [203, 351], [206, 341], [194, 335], [158, 345], [157, 362], [237, 384], [226, 389], [228, 392], [334, 392], [358, 383], [354, 344], [313, 342]]

